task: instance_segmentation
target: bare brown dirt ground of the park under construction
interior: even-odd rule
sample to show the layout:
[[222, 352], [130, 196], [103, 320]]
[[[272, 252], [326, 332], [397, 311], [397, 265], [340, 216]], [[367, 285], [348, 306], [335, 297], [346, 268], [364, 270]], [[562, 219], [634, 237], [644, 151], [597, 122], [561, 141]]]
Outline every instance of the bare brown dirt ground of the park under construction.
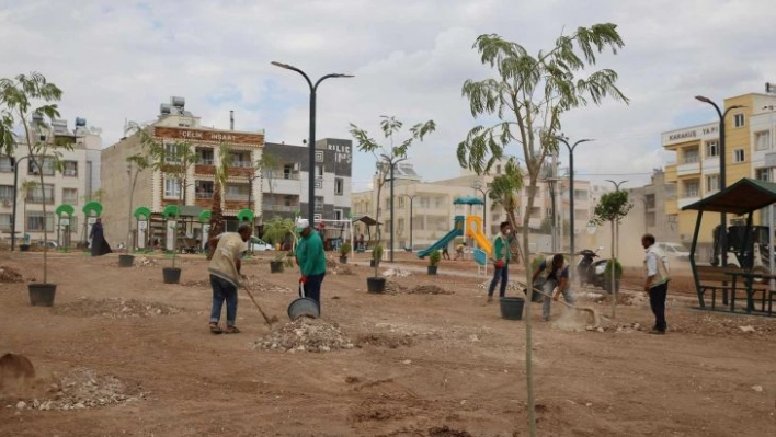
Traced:
[[[525, 321], [486, 304], [473, 264], [443, 262], [431, 277], [397, 257], [391, 292], [367, 294], [373, 269], [351, 260], [323, 283], [322, 320], [295, 325], [298, 273], [247, 261], [254, 297], [281, 322], [269, 329], [240, 291], [242, 333], [213, 335], [202, 256], [164, 285], [162, 256], [119, 268], [115, 254], [53, 254], [56, 301], [41, 308], [7, 272], [39, 280], [41, 254], [2, 253], [0, 355], [25, 355], [37, 377], [0, 393], [0, 435], [527, 435]], [[626, 272], [627, 304], [604, 330], [543, 323], [532, 304], [539, 435], [776, 435], [776, 318], [694, 310], [688, 272], [676, 272], [669, 334], [648, 335], [649, 304], [629, 292], [638, 275]], [[593, 291], [577, 295], [608, 314]]]

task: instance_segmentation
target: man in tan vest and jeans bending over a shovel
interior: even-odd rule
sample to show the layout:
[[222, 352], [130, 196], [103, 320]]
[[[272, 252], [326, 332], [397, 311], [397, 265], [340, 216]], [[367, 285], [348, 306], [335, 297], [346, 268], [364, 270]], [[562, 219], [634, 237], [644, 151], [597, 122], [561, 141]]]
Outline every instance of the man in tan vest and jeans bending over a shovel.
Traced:
[[[213, 309], [210, 310], [210, 333], [213, 334], [238, 334], [240, 332], [235, 325], [237, 287], [240, 285], [240, 279], [244, 278], [244, 275], [240, 273], [241, 260], [248, 250], [246, 241], [251, 238], [251, 233], [253, 233], [252, 225], [241, 223], [237, 232], [224, 232], [214, 237], [209, 242], [218, 244], [207, 267], [213, 287]], [[218, 325], [225, 300], [227, 307], [226, 331]]]

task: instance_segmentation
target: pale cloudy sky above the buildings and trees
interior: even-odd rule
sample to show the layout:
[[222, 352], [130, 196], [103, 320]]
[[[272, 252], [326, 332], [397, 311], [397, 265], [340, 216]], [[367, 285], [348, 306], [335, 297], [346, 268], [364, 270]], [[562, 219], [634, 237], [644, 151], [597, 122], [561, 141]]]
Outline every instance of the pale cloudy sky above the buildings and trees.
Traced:
[[[0, 0], [0, 77], [43, 73], [64, 90], [68, 126], [85, 117], [107, 147], [125, 120], [155, 120], [172, 95], [205, 126], [228, 129], [233, 110], [237, 130], [300, 145], [309, 88], [270, 62], [313, 81], [350, 73], [318, 88], [317, 138], [352, 139], [354, 124], [379, 139], [381, 115], [406, 127], [433, 119], [436, 131], [409, 162], [435, 181], [460, 174], [457, 145], [492, 122], [473, 118], [461, 96], [467, 79], [495, 77], [472, 48], [477, 36], [498, 34], [536, 54], [561, 33], [605, 22], [617, 24], [625, 47], [594, 68], [616, 70], [630, 103], [563, 114], [571, 141], [594, 139], [574, 152], [575, 179], [641, 186], [673, 158], [661, 133], [717, 119], [693, 96], [721, 103], [776, 82], [771, 0]], [[560, 161], [568, 165], [568, 152]], [[374, 169], [372, 154], [354, 153], [354, 191]]]

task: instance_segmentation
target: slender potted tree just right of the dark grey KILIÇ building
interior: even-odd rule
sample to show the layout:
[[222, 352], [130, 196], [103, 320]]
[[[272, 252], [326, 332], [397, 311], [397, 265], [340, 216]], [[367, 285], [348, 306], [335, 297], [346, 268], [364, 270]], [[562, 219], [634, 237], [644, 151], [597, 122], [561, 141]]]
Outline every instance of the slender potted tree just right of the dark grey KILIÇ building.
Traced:
[[[407, 152], [412, 147], [412, 143], [416, 141], [423, 141], [423, 138], [436, 130], [436, 124], [434, 120], [427, 120], [425, 123], [419, 123], [410, 127], [410, 138], [398, 142], [396, 138], [397, 134], [401, 131], [402, 122], [396, 119], [393, 116], [381, 115], [380, 118], [380, 130], [388, 141], [387, 143], [379, 143], [374, 138], [369, 137], [366, 130], [358, 128], [358, 126], [351, 124], [351, 135], [358, 142], [358, 150], [362, 152], [368, 152], [374, 154], [377, 160], [377, 175], [375, 180], [377, 188], [377, 211], [375, 220], [377, 221], [375, 248], [380, 244], [383, 238], [383, 231], [380, 229], [380, 193], [383, 186], [385, 186], [386, 179], [390, 175], [390, 171], [397, 163], [407, 159]], [[377, 277], [377, 263], [375, 263], [375, 277]]]

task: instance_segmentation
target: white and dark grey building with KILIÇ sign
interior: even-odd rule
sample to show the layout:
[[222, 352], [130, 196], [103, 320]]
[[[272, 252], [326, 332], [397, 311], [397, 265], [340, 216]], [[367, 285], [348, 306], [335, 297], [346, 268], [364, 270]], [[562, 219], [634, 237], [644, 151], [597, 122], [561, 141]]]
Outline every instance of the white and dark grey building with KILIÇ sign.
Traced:
[[[308, 216], [309, 148], [267, 142], [264, 153], [276, 162], [263, 171], [263, 216]], [[324, 138], [316, 141], [316, 220], [344, 220], [351, 212], [353, 142]]]

